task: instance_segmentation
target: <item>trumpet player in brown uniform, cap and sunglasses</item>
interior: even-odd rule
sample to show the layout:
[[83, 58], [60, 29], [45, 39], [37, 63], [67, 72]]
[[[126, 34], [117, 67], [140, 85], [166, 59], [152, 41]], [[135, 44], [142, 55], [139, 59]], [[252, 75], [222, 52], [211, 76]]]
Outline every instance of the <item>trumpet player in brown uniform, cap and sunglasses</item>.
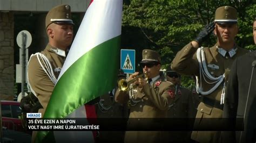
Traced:
[[139, 76], [138, 72], [132, 74], [127, 83], [134, 81], [132, 84], [137, 86], [130, 85], [131, 88], [127, 91], [119, 87], [115, 95], [119, 103], [127, 103], [129, 100], [131, 102], [127, 127], [136, 131], [126, 131], [124, 142], [167, 142], [166, 132], [138, 131], [142, 128], [136, 128], [138, 125], [151, 127], [154, 124], [153, 118], [166, 118], [167, 109], [175, 96], [174, 84], [166, 82], [164, 76], [159, 75], [159, 54], [144, 49], [142, 56], [140, 66], [147, 78]]

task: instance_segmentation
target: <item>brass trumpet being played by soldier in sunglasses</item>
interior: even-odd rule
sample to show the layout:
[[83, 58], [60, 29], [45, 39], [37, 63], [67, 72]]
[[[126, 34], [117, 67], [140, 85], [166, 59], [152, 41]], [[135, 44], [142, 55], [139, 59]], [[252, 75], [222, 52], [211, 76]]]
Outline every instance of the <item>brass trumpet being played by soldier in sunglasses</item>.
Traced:
[[130, 90], [130, 84], [136, 82], [138, 80], [138, 78], [144, 78], [147, 81], [147, 73], [146, 73], [146, 71], [145, 71], [145, 73], [136, 76], [134, 79], [132, 79], [130, 81], [126, 81], [125, 79], [119, 80], [118, 81], [119, 89], [122, 90], [122, 91]]

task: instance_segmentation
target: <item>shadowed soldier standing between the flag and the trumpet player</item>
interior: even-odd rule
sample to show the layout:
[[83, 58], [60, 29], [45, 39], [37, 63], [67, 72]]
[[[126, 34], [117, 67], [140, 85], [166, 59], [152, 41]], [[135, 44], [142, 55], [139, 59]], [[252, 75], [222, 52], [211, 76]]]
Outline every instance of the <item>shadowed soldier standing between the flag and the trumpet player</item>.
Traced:
[[[125, 79], [126, 75], [122, 69], [119, 69], [118, 80]], [[117, 118], [128, 118], [127, 103], [121, 104], [114, 101], [114, 95], [118, 90], [118, 86], [108, 93], [100, 96], [100, 101], [96, 105], [96, 112], [98, 118], [105, 118], [104, 120], [117, 120]], [[122, 119], [120, 119], [122, 120]], [[124, 131], [100, 131], [97, 142], [123, 142]]]

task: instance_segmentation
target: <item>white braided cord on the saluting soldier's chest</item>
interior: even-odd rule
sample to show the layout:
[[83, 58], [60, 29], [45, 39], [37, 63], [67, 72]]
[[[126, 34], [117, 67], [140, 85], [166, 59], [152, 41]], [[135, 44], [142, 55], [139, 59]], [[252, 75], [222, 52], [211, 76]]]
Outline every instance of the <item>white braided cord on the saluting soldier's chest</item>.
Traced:
[[[197, 80], [197, 93], [202, 94], [202, 95], [208, 95], [211, 94], [215, 89], [217, 89], [219, 87], [219, 85], [224, 81], [225, 78], [225, 73], [223, 75], [220, 75], [218, 77], [213, 77], [206, 66], [206, 62], [205, 62], [205, 53], [203, 50], [204, 47], [200, 47], [197, 49], [197, 60], [199, 63], [199, 76], [200, 76], [200, 85], [199, 85], [199, 79], [198, 76], [196, 76], [196, 80]], [[203, 76], [203, 77], [202, 77]], [[208, 91], [203, 91], [202, 88], [202, 78], [204, 78], [204, 81], [208, 84], [215, 84], [210, 90]], [[207, 81], [207, 79], [211, 80]], [[223, 91], [221, 94], [221, 101], [220, 104], [224, 103], [224, 95], [225, 95], [225, 83], [224, 83], [224, 87], [223, 87]]]

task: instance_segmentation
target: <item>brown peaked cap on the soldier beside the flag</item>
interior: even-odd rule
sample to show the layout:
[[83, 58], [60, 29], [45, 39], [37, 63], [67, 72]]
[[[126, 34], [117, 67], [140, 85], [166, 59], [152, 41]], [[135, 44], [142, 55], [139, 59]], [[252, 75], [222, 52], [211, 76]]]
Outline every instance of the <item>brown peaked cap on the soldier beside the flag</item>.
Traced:
[[63, 4], [52, 8], [46, 15], [45, 28], [52, 23], [74, 25], [73, 20], [71, 19], [70, 5]]

